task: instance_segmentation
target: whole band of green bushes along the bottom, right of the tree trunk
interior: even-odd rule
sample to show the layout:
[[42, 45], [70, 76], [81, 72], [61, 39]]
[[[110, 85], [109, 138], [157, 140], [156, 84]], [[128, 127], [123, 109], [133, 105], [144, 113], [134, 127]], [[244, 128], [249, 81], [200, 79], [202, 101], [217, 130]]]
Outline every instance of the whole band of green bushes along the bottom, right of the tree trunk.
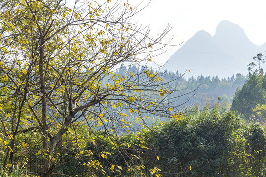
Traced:
[[[245, 124], [232, 112], [220, 114], [212, 111], [181, 120], [173, 119], [149, 130], [142, 130], [137, 136], [127, 134], [119, 139], [111, 138], [113, 143], [108, 138], [112, 136], [107, 136], [104, 131], [82, 136], [84, 146], [73, 144], [65, 148], [62, 152], [64, 163], [55, 174], [130, 177], [127, 162], [133, 161], [129, 160], [131, 157], [127, 154], [132, 154], [140, 158], [135, 159], [131, 170], [138, 170], [143, 176], [153, 176], [151, 169], [164, 177], [266, 175], [265, 127], [258, 123]], [[94, 139], [93, 144], [90, 139]], [[82, 165], [85, 162], [97, 168], [85, 168]]]

